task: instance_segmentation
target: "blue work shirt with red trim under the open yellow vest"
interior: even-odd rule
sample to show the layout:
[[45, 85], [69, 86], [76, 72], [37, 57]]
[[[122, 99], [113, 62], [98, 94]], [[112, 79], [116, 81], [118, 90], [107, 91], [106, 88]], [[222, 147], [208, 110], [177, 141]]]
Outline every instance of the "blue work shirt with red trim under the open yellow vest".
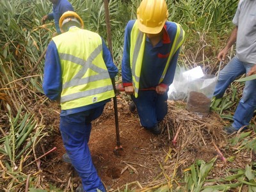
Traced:
[[[124, 86], [132, 85], [132, 72], [130, 65], [131, 31], [135, 20], [130, 20], [125, 28], [124, 54], [122, 59], [122, 82]], [[167, 21], [163, 29], [163, 39], [153, 47], [146, 36], [145, 50], [140, 74], [140, 88], [151, 88], [159, 85], [159, 80], [166, 66], [173, 40], [177, 31], [177, 25]], [[173, 82], [175, 68], [179, 56], [179, 49], [173, 54], [166, 75], [161, 83], [168, 87]]]

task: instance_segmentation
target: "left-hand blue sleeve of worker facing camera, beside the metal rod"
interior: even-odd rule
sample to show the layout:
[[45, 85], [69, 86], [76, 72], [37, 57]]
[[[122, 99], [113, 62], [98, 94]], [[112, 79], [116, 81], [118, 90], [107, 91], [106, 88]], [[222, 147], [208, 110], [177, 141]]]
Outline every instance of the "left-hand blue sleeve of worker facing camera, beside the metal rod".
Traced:
[[135, 20], [130, 20], [127, 23], [124, 32], [124, 52], [122, 59], [122, 82], [132, 83], [132, 72], [130, 65], [130, 47], [131, 47], [131, 30]]

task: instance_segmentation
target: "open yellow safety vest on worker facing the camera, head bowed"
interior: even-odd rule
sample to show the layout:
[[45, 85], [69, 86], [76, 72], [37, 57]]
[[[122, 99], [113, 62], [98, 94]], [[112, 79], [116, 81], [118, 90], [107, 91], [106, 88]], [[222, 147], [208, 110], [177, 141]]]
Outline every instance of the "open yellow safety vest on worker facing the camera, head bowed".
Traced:
[[[179, 47], [184, 42], [185, 32], [179, 24], [177, 23], [175, 24], [177, 25], [177, 32], [173, 40], [172, 49], [170, 50], [170, 54], [166, 62], [163, 74], [161, 76], [161, 79], [159, 80], [159, 84], [164, 79], [164, 76], [170, 65], [170, 60], [172, 59], [173, 54], [175, 54], [175, 52], [179, 49]], [[138, 97], [138, 91], [140, 86], [140, 73], [141, 73], [141, 66], [142, 66], [143, 54], [145, 49], [145, 41], [146, 41], [146, 35], [145, 33], [142, 33], [140, 31], [140, 29], [138, 28], [138, 20], [136, 20], [134, 22], [134, 25], [131, 31], [131, 48], [130, 48], [130, 66], [132, 70], [132, 85], [134, 87], [135, 97]]]

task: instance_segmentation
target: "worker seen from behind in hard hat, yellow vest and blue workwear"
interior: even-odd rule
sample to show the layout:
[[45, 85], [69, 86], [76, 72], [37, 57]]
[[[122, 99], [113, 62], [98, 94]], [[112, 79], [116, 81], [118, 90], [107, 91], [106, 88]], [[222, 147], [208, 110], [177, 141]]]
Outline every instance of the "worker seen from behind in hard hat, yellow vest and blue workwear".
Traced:
[[106, 191], [88, 148], [92, 120], [99, 118], [107, 102], [115, 97], [111, 78], [118, 72], [104, 40], [83, 28], [75, 12], [60, 18], [61, 35], [47, 47], [44, 67], [44, 93], [60, 99], [60, 132], [67, 154], [83, 186], [76, 191]]

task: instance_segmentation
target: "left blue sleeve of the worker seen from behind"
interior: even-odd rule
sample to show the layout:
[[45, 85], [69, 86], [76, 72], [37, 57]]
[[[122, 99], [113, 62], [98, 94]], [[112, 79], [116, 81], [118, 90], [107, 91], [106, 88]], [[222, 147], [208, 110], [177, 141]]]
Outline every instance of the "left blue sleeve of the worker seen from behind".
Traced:
[[45, 56], [43, 90], [51, 100], [60, 98], [62, 90], [61, 65], [58, 50], [53, 41], [49, 43]]

